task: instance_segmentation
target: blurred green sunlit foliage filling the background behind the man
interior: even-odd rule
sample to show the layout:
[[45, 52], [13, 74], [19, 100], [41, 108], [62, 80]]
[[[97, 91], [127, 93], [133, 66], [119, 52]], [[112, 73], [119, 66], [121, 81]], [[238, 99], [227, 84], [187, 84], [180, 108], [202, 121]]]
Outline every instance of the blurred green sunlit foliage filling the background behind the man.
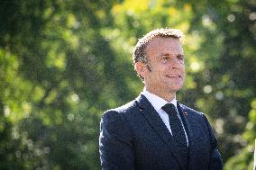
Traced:
[[155, 28], [186, 34], [178, 99], [205, 112], [226, 170], [252, 168], [256, 3], [0, 2], [0, 169], [99, 169], [100, 117], [142, 91], [132, 52]]

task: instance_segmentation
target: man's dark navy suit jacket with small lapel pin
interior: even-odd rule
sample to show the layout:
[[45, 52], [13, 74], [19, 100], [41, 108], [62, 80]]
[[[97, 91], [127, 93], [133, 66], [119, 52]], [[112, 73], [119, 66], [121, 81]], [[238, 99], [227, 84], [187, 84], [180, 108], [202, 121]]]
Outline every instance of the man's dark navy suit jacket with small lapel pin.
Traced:
[[206, 116], [179, 103], [178, 112], [187, 131], [187, 167], [158, 112], [141, 94], [103, 115], [99, 138], [102, 169], [221, 170], [217, 141]]

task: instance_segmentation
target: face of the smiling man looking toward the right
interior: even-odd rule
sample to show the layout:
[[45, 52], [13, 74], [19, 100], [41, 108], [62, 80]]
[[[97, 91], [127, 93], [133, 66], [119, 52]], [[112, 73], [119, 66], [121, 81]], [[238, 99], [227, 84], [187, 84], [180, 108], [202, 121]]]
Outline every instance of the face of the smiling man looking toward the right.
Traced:
[[156, 37], [146, 47], [150, 70], [142, 64], [146, 89], [153, 94], [176, 94], [185, 79], [184, 53], [174, 38]]

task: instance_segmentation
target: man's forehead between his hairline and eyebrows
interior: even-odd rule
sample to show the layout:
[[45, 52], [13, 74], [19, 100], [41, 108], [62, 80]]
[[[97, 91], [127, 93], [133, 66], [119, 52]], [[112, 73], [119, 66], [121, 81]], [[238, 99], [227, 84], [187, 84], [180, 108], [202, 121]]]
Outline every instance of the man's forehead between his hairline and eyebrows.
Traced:
[[151, 53], [175, 53], [183, 54], [182, 46], [178, 39], [172, 37], [155, 37], [145, 49], [147, 54]]

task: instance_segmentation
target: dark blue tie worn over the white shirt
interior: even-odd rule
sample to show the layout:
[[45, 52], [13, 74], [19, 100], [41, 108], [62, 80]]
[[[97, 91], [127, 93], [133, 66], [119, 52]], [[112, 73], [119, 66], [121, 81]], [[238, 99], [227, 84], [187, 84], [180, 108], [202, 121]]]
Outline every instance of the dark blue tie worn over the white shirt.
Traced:
[[162, 106], [162, 110], [167, 112], [169, 115], [169, 126], [172, 136], [177, 143], [180, 155], [184, 158], [184, 161], [187, 162], [187, 139], [181, 120], [178, 118], [178, 112], [176, 112], [176, 108], [172, 103], [167, 103]]

